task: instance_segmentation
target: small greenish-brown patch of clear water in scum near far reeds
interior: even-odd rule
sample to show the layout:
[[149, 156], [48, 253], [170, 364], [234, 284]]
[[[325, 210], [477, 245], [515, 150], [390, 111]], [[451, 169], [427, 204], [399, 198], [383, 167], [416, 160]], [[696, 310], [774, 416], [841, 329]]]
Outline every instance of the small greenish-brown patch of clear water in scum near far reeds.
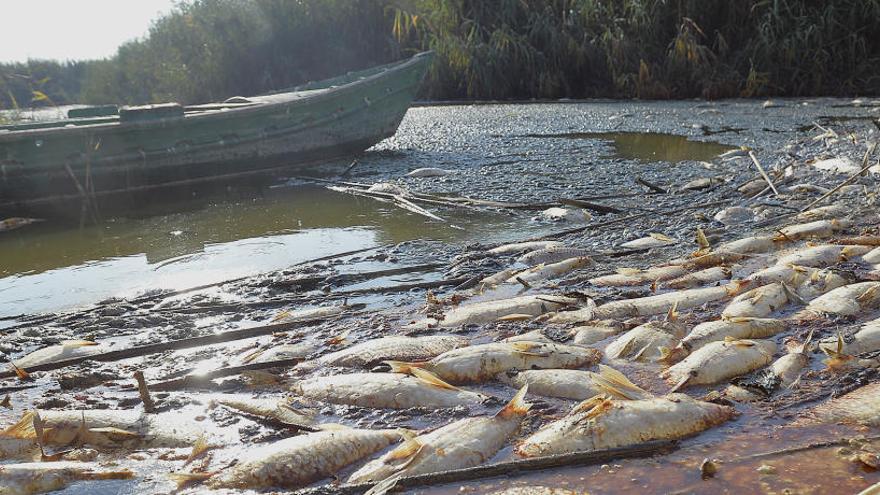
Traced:
[[711, 160], [731, 149], [719, 143], [691, 141], [685, 136], [657, 132], [573, 132], [566, 134], [531, 134], [528, 137], [600, 139], [614, 146], [614, 155], [643, 162], [683, 162]]

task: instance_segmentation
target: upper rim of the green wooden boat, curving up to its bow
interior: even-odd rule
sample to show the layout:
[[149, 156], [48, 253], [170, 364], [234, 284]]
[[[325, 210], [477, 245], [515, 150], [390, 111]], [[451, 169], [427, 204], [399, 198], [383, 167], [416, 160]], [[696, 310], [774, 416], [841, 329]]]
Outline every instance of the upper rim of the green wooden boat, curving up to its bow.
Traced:
[[[342, 86], [330, 87], [326, 88], [326, 90], [305, 90], [305, 91], [314, 91], [313, 94], [306, 95], [300, 98], [289, 97], [283, 101], [277, 102], [268, 102], [268, 103], [258, 103], [255, 105], [250, 105], [244, 108], [235, 108], [232, 110], [216, 110], [216, 111], [206, 111], [194, 113], [192, 115], [185, 115], [183, 118], [175, 118], [175, 119], [156, 119], [145, 122], [127, 122], [121, 123], [119, 121], [116, 122], [102, 122], [98, 124], [86, 124], [86, 125], [76, 125], [76, 126], [61, 126], [61, 127], [49, 127], [49, 128], [40, 128], [40, 129], [23, 129], [18, 131], [8, 131], [8, 132], [0, 132], [0, 144], [7, 142], [15, 142], [23, 137], [39, 137], [39, 136], [52, 136], [57, 134], [89, 134], [88, 131], [95, 130], [109, 130], [109, 129], [149, 129], [153, 127], [165, 127], [169, 123], [179, 123], [179, 122], [193, 122], [193, 121], [202, 121], [202, 120], [212, 120], [212, 119], [226, 119], [232, 115], [235, 116], [248, 116], [251, 114], [261, 114], [261, 113], [272, 113], [279, 108], [283, 108], [289, 105], [295, 105], [300, 102], [320, 102], [324, 99], [333, 99], [341, 94], [346, 94], [354, 89], [372, 84], [377, 80], [387, 79], [389, 75], [393, 73], [400, 73], [409, 69], [413, 65], [417, 65], [424, 62], [426, 57], [430, 57], [432, 51], [419, 52], [412, 57], [401, 60], [399, 62], [389, 64], [391, 65], [389, 68], [378, 72], [376, 74], [364, 77], [363, 79], [358, 79], [352, 81], [348, 84], [344, 84]], [[430, 60], [429, 60], [430, 61]], [[338, 76], [337, 76], [338, 77]], [[333, 78], [330, 78], [333, 79]], [[320, 81], [318, 81], [320, 83]], [[287, 91], [282, 93], [273, 93], [266, 95], [257, 95], [252, 98], [258, 98], [259, 96], [283, 96], [283, 95], [295, 95], [297, 93], [301, 93], [301, 91]], [[64, 120], [59, 120], [59, 123], [64, 122]]]

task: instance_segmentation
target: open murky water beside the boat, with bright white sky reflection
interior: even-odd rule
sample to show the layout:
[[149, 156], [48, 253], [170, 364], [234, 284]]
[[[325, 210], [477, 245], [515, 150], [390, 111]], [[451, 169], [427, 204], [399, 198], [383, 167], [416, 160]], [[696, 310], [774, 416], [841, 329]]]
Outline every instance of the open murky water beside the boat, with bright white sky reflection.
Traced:
[[[444, 212], [427, 223], [318, 186], [100, 226], [52, 222], [0, 236], [0, 315], [54, 311], [155, 288], [186, 288], [333, 253], [417, 238], [480, 236], [506, 217]], [[463, 227], [464, 230], [456, 227]]]

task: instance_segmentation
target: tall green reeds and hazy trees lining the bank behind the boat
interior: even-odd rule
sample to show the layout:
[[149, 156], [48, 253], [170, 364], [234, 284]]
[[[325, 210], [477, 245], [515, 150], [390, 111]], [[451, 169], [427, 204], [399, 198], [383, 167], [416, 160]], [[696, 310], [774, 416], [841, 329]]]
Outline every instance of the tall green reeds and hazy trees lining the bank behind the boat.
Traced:
[[436, 99], [880, 94], [878, 19], [880, 0], [190, 0], [109, 60], [0, 66], [0, 104], [31, 98], [12, 74], [59, 103], [188, 103], [424, 49]]

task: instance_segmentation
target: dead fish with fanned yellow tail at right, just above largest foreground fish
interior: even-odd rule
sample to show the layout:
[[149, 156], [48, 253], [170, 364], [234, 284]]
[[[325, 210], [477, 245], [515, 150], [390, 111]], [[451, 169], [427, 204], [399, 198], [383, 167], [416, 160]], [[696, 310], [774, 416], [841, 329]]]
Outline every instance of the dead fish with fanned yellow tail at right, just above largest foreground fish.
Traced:
[[[498, 381], [514, 387], [529, 387], [529, 391], [544, 397], [584, 400], [609, 393], [616, 399], [645, 399], [650, 397], [614, 368], [599, 365], [599, 373], [583, 370], [511, 370], [498, 374]], [[597, 385], [598, 384], [598, 385]], [[622, 392], [622, 393], [620, 393]]]

